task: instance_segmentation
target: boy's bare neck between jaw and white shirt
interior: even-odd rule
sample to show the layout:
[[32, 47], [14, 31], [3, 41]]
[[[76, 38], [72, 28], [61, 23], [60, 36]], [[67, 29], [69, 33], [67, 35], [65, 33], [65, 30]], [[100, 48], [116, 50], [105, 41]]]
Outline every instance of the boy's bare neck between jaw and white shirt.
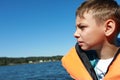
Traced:
[[97, 54], [100, 59], [109, 59], [114, 57], [117, 51], [118, 47], [116, 47], [115, 45], [104, 45], [104, 47], [97, 50]]

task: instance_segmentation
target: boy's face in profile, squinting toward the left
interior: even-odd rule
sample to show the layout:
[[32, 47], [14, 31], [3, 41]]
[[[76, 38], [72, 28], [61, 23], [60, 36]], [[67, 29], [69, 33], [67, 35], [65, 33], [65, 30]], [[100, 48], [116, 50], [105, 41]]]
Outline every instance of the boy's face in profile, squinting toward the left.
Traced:
[[104, 24], [98, 24], [92, 14], [84, 13], [84, 18], [76, 17], [74, 36], [83, 50], [100, 49], [105, 41]]

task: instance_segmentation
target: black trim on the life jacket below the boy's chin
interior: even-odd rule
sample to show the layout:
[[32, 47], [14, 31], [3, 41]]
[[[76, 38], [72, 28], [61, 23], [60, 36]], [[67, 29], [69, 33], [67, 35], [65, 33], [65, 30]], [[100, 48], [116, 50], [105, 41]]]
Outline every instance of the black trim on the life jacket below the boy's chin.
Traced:
[[96, 55], [95, 51], [83, 51], [80, 46], [78, 45], [78, 43], [76, 43], [75, 45], [75, 49], [76, 52], [78, 54], [78, 56], [80, 57], [81, 61], [83, 62], [85, 68], [87, 69], [87, 71], [89, 72], [89, 74], [91, 75], [91, 77], [93, 78], [93, 80], [98, 80], [96, 73], [94, 71], [94, 68], [92, 67], [91, 63], [90, 63], [90, 59], [88, 58], [89, 56], [87, 54], [94, 54]]

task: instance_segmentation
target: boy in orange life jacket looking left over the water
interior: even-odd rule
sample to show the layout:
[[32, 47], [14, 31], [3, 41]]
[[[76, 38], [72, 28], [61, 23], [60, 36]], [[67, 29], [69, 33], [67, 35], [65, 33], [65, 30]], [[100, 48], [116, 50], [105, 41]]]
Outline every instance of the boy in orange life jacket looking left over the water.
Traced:
[[77, 44], [62, 58], [75, 80], [120, 80], [120, 8], [114, 0], [88, 0], [76, 11]]

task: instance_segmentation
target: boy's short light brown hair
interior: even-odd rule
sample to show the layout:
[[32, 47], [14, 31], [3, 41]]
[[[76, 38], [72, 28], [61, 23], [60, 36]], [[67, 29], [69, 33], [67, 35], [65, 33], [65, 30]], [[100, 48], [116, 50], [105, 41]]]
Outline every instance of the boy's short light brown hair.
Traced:
[[84, 17], [85, 12], [91, 12], [93, 17], [100, 23], [107, 19], [113, 19], [117, 26], [117, 33], [120, 32], [120, 8], [114, 0], [87, 0], [78, 7], [76, 16]]

